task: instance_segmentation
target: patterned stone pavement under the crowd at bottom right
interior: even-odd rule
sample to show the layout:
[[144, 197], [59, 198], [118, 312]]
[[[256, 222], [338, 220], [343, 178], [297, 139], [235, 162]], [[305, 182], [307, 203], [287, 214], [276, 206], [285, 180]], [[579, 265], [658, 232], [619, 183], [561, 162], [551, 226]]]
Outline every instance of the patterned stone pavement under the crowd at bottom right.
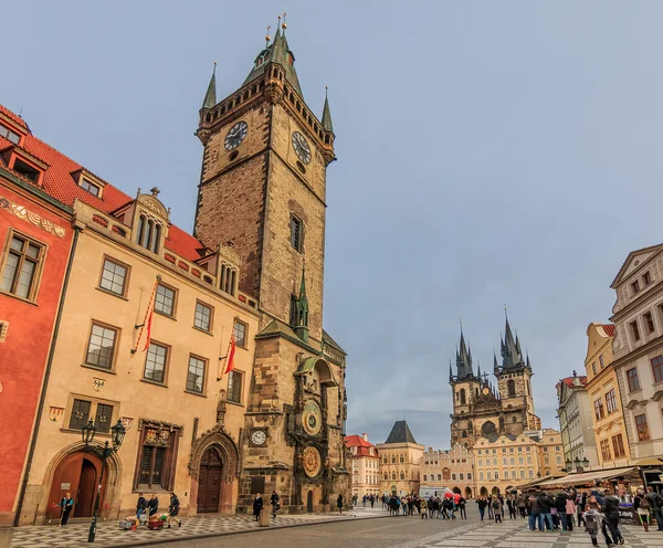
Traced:
[[[624, 546], [638, 548], [662, 548], [663, 531], [642, 527], [621, 525], [620, 530], [625, 539]], [[604, 547], [603, 536], [599, 535], [599, 546]], [[524, 520], [506, 520], [503, 524], [484, 521], [472, 523], [449, 531], [440, 533], [418, 542], [400, 545], [399, 548], [566, 548], [591, 547], [591, 539], [585, 528], [573, 529], [572, 534], [562, 531], [530, 530]]]

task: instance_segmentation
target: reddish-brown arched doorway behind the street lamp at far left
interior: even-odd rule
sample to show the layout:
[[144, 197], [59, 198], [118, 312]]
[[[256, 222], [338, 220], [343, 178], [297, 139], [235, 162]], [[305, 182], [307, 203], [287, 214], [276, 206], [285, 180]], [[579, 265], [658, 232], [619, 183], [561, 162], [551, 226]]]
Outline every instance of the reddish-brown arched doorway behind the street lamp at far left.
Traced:
[[[55, 468], [49, 494], [46, 518], [59, 519], [60, 508], [53, 504], [62, 500], [67, 493], [74, 499], [72, 517], [90, 517], [94, 513], [94, 503], [98, 488], [102, 461], [92, 453], [77, 451], [64, 457]], [[99, 508], [104, 507], [107, 474], [104, 474]]]

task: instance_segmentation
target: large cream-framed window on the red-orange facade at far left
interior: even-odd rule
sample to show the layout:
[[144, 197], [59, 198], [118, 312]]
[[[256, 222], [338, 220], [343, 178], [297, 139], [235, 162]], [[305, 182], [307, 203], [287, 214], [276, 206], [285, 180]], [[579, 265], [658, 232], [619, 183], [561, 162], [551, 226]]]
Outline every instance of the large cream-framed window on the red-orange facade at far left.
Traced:
[[43, 260], [42, 244], [12, 234], [4, 254], [0, 291], [34, 302]]

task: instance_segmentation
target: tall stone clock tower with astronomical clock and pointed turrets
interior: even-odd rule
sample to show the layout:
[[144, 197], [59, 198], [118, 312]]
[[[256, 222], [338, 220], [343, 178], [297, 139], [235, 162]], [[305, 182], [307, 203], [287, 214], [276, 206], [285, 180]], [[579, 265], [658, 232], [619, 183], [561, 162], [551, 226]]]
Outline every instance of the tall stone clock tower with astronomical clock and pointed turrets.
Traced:
[[[327, 167], [336, 159], [329, 104], [304, 101], [285, 23], [239, 89], [208, 87], [197, 131], [204, 151], [194, 233], [241, 260], [232, 289], [255, 298], [255, 338], [238, 509], [276, 491], [290, 512], [349, 500], [343, 348], [323, 329]], [[241, 350], [238, 350], [241, 351]]]

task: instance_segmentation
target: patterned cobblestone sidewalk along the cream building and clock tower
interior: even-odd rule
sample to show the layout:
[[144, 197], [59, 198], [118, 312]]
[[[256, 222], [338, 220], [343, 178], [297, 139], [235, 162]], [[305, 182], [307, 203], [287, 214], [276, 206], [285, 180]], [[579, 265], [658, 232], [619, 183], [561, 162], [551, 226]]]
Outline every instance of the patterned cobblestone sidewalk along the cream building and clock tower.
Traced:
[[[366, 519], [385, 516], [385, 512], [357, 509], [343, 514], [303, 514], [283, 515], [272, 520], [275, 527], [292, 527], [297, 525], [335, 523], [341, 519]], [[90, 523], [70, 524], [66, 527], [57, 526], [28, 526], [14, 529], [12, 548], [38, 547], [72, 547], [85, 546]], [[164, 540], [196, 538], [206, 535], [228, 535], [244, 533], [259, 528], [251, 516], [182, 518], [182, 527], [175, 525], [171, 529], [149, 530], [139, 527], [137, 530], [120, 530], [117, 521], [101, 521], [97, 525], [95, 544], [99, 546], [137, 546], [143, 544], [158, 544]]]

